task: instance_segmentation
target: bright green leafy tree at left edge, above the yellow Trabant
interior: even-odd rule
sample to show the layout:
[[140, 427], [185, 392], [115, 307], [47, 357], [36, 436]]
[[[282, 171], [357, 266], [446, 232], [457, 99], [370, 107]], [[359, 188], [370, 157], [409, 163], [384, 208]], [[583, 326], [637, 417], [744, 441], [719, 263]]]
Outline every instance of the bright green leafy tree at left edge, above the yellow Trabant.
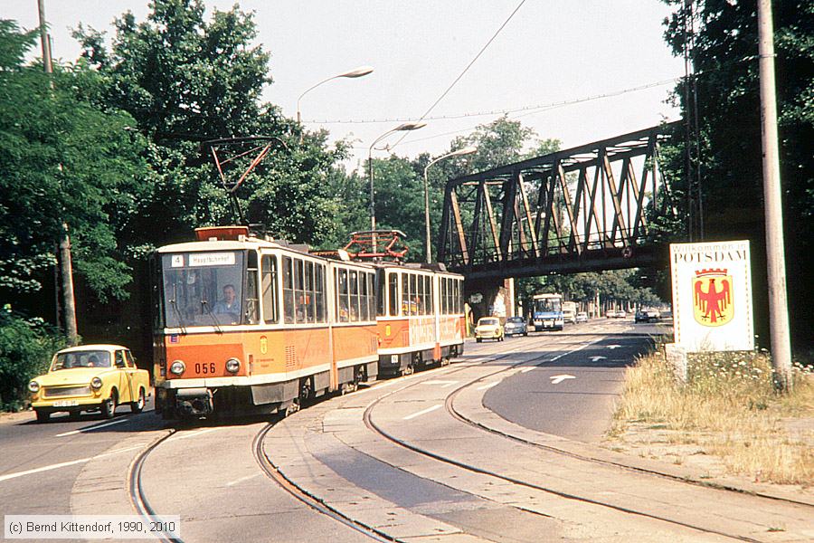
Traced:
[[0, 22], [0, 288], [41, 288], [69, 225], [76, 269], [104, 297], [121, 297], [128, 268], [113, 261], [118, 222], [140, 173], [140, 144], [127, 114], [100, 111], [76, 90], [95, 75], [80, 66], [49, 78], [23, 64], [32, 33]]

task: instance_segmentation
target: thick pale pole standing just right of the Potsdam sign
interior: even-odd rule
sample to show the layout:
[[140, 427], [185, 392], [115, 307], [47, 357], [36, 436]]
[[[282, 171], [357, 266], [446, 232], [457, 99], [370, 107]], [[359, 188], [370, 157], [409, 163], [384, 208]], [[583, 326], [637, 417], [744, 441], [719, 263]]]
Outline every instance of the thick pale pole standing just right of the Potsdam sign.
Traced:
[[781, 390], [791, 383], [791, 339], [786, 299], [786, 257], [777, 137], [777, 96], [774, 84], [774, 30], [771, 0], [758, 0], [758, 53], [761, 80], [763, 201], [766, 215], [766, 261], [769, 271], [769, 327], [774, 382]]

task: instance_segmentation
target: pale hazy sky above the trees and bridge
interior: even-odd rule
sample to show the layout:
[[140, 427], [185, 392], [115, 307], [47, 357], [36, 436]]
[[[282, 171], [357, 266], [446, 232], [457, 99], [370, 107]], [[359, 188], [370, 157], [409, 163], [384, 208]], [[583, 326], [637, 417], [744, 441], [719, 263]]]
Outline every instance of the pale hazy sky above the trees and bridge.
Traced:
[[[351, 140], [347, 166], [357, 167], [376, 138], [431, 108], [521, 0], [206, 0], [205, 17], [236, 3], [254, 13], [257, 43], [271, 54], [274, 82], [263, 100], [291, 118], [312, 85], [374, 67], [363, 78], [327, 81], [301, 100], [307, 128], [327, 129], [332, 141]], [[78, 24], [111, 37], [114, 18], [126, 11], [144, 21], [148, 3], [45, 0], [54, 58], [77, 58], [71, 29]], [[398, 142], [392, 152], [402, 157], [440, 156], [453, 138], [506, 110], [563, 148], [676, 120], [680, 113], [667, 101], [684, 63], [662, 37], [668, 14], [659, 0], [526, 0], [427, 115], [426, 127], [382, 143]], [[0, 17], [32, 29], [37, 0], [2, 0]]]

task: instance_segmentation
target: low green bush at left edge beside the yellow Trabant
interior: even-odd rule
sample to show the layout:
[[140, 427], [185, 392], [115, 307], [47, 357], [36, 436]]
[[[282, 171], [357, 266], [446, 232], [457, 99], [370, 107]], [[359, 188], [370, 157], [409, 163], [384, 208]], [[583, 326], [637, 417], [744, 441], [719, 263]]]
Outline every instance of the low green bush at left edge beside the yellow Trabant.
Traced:
[[43, 319], [24, 319], [6, 306], [0, 310], [0, 410], [16, 411], [28, 396], [28, 382], [48, 367], [64, 337]]

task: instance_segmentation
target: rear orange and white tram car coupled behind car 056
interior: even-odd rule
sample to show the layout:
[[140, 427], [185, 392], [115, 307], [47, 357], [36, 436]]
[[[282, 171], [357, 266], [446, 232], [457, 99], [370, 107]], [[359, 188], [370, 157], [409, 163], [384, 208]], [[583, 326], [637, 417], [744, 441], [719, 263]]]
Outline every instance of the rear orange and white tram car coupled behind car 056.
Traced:
[[376, 265], [379, 374], [410, 374], [463, 354], [463, 277], [440, 264]]

